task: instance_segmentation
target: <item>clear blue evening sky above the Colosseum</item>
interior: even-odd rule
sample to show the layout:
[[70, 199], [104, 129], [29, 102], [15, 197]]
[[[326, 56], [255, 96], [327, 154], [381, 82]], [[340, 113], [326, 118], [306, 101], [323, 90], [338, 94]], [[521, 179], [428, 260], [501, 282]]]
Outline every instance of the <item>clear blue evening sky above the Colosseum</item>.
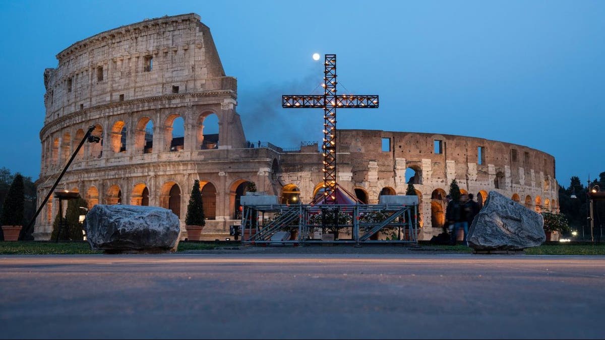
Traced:
[[605, 1], [0, 1], [0, 166], [38, 178], [44, 68], [76, 41], [145, 18], [195, 12], [238, 79], [246, 138], [321, 140], [320, 93], [338, 55], [339, 93], [380, 108], [340, 110], [338, 128], [438, 132], [554, 155], [557, 180], [605, 171]]

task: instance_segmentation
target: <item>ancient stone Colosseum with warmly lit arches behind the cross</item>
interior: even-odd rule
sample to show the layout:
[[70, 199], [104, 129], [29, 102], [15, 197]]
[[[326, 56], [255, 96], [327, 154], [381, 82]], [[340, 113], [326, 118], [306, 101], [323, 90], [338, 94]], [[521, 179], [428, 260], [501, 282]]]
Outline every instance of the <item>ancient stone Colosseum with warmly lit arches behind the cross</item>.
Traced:
[[[45, 108], [39, 204], [88, 126], [85, 143], [60, 183], [97, 203], [171, 209], [184, 218], [200, 180], [204, 238], [224, 240], [240, 224], [239, 201], [255, 183], [283, 203], [313, 200], [323, 183], [316, 143], [296, 150], [248, 142], [237, 113], [237, 80], [226, 76], [209, 28], [196, 14], [125, 25], [76, 42], [44, 72]], [[249, 113], [255, 114], [255, 113]], [[178, 133], [178, 131], [182, 131]], [[440, 232], [445, 193], [456, 179], [480, 203], [490, 190], [530, 209], [557, 210], [555, 160], [526, 146], [474, 137], [339, 130], [339, 185], [365, 203], [405, 194], [420, 200], [420, 240]], [[36, 240], [50, 238], [58, 204], [36, 220]]]

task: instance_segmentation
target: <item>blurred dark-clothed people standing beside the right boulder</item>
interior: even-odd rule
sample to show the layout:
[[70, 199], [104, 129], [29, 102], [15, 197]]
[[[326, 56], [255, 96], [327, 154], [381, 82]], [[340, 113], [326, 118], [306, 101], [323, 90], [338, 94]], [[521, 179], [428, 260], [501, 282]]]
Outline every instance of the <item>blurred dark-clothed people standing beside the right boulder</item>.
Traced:
[[456, 238], [459, 229], [464, 230], [464, 241], [466, 245], [466, 235], [468, 228], [473, 223], [473, 218], [479, 214], [480, 206], [473, 200], [473, 194], [462, 194], [459, 200], [453, 200], [451, 195], [445, 197], [447, 208], [445, 209], [445, 224], [443, 232], [449, 232], [450, 244], [456, 244]]

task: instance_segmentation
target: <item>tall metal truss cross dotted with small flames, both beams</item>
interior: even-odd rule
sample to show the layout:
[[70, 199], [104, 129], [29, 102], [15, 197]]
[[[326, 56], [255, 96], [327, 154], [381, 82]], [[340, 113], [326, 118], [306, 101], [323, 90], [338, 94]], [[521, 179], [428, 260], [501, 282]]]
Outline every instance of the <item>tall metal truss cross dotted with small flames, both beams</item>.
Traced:
[[336, 95], [336, 54], [325, 54], [324, 94], [290, 94], [281, 97], [283, 108], [323, 108], [324, 203], [336, 203], [336, 108], [378, 108], [378, 96]]

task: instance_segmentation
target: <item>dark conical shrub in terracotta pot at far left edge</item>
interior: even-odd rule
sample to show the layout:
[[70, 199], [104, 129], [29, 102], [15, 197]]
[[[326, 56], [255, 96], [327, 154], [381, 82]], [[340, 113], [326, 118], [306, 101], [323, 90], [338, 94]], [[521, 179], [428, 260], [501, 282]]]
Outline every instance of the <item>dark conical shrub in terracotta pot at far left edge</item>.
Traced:
[[13, 183], [2, 206], [2, 232], [4, 241], [19, 240], [19, 233], [23, 227], [23, 206], [25, 201], [23, 177], [21, 174], [15, 175]]

